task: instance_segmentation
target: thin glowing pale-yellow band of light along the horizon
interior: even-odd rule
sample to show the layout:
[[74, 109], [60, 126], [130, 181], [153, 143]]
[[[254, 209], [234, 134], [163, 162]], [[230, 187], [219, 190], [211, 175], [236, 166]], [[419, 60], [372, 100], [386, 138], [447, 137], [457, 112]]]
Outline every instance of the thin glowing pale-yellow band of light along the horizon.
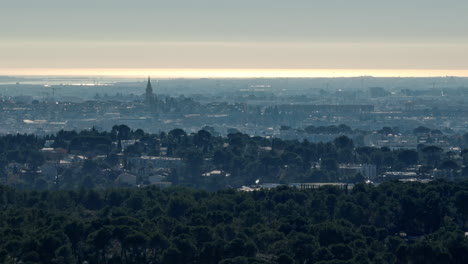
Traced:
[[0, 68], [11, 77], [349, 78], [468, 77], [468, 69]]

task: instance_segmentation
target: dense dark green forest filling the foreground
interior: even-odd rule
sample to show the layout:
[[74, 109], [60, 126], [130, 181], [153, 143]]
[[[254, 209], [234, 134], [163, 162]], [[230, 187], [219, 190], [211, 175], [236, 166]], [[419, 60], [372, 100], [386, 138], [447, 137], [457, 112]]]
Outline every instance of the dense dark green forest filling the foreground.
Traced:
[[468, 263], [468, 181], [301, 191], [18, 191], [1, 263]]

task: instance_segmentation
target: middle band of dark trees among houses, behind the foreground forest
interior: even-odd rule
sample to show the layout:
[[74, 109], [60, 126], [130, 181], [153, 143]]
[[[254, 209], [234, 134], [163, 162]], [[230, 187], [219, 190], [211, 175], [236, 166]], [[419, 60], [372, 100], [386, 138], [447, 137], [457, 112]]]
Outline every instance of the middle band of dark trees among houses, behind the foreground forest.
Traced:
[[[345, 126], [340, 127], [346, 130]], [[466, 138], [466, 142], [464, 139], [460, 141], [461, 147], [468, 146]], [[57, 156], [41, 151], [45, 140], [53, 140], [52, 147], [61, 153], [83, 155], [85, 162], [80, 168], [57, 165], [59, 177], [52, 182], [37, 169], [45, 163], [59, 162]], [[132, 143], [123, 144], [128, 141]], [[339, 164], [348, 163], [373, 164], [377, 174], [412, 168], [418, 177], [433, 176], [431, 172], [437, 169], [437, 177], [455, 179], [468, 176], [467, 153], [466, 150], [445, 152], [432, 145], [421, 145], [414, 150], [358, 147], [346, 136], [339, 136], [331, 142], [312, 143], [251, 137], [242, 133], [215, 136], [210, 127], [190, 134], [182, 129], [148, 134], [141, 129], [132, 130], [120, 125], [111, 131], [60, 131], [45, 138], [1, 136], [0, 179], [19, 189], [109, 187], [119, 173], [132, 169], [129, 158], [143, 155], [182, 158], [185, 166], [173, 168], [166, 180], [209, 190], [251, 185], [257, 179], [262, 183], [362, 182], [364, 177], [361, 174], [340, 173]], [[120, 164], [123, 168], [119, 167]], [[224, 171], [230, 176], [202, 176], [213, 170]], [[139, 183], [144, 181], [138, 178]]]

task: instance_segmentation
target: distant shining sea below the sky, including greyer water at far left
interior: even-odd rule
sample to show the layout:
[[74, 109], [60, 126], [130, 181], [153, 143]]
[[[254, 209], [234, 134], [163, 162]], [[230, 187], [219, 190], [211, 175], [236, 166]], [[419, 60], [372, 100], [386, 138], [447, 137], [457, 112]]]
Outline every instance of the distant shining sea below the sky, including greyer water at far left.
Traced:
[[251, 78], [468, 78], [468, 70], [366, 69], [1, 69], [0, 85], [102, 86], [153, 79]]

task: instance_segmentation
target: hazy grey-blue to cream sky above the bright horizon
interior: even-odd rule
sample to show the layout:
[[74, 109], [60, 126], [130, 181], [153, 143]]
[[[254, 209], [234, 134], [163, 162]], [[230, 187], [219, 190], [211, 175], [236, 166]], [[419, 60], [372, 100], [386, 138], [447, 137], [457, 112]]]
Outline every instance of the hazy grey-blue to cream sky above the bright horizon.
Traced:
[[0, 68], [468, 70], [466, 0], [0, 0]]

